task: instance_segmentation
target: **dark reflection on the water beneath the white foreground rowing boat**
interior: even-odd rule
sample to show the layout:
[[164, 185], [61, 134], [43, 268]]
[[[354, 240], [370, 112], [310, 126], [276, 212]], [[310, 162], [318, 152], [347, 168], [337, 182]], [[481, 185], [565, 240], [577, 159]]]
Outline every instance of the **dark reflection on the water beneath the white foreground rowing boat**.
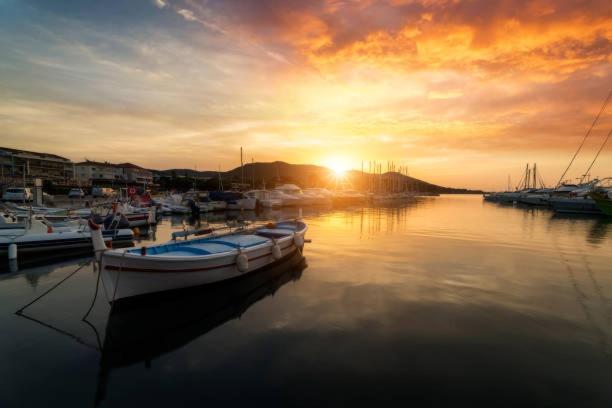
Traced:
[[163, 301], [114, 308], [102, 346], [96, 402], [104, 399], [113, 368], [148, 363], [239, 318], [259, 300], [300, 279], [305, 267], [303, 257], [296, 252], [287, 262], [237, 281], [182, 291]]

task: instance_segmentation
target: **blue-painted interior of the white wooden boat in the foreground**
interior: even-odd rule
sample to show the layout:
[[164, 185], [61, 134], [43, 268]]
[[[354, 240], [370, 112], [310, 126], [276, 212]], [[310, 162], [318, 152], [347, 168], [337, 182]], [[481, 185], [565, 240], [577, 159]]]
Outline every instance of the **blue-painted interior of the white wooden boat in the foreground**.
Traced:
[[[162, 256], [202, 256], [233, 251], [239, 248], [249, 248], [265, 244], [271, 238], [282, 238], [303, 228], [302, 223], [280, 222], [266, 228], [259, 228], [251, 234], [232, 234], [198, 238], [188, 241], [170, 242], [146, 248], [147, 255]], [[141, 254], [141, 248], [128, 250], [128, 253]]]

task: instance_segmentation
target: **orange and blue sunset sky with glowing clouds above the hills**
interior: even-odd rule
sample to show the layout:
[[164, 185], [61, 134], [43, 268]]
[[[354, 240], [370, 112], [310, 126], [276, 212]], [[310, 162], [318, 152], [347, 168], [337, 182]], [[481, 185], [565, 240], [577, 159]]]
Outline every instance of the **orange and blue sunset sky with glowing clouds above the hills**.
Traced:
[[[537, 162], [555, 184], [611, 51], [609, 0], [0, 0], [0, 146], [202, 170], [243, 146], [482, 189]], [[611, 128], [612, 102], [568, 179]]]

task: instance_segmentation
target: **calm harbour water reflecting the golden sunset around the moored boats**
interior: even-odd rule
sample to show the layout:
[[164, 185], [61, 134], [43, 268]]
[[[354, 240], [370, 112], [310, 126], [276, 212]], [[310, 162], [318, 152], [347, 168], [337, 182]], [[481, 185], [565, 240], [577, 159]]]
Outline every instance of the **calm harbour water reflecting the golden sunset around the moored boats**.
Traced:
[[102, 353], [91, 265], [26, 309], [55, 330], [14, 314], [87, 259], [0, 275], [0, 406], [612, 406], [611, 221], [479, 196], [303, 215], [305, 262], [110, 319], [101, 293]]

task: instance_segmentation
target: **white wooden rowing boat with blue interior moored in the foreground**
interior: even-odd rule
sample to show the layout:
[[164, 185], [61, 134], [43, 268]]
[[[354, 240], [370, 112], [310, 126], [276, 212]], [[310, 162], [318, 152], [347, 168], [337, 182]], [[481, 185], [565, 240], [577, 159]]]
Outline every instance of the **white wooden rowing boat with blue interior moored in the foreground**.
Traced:
[[283, 221], [127, 250], [107, 250], [99, 237], [93, 242], [112, 303], [239, 278], [279, 263], [302, 251], [306, 230], [302, 221]]

